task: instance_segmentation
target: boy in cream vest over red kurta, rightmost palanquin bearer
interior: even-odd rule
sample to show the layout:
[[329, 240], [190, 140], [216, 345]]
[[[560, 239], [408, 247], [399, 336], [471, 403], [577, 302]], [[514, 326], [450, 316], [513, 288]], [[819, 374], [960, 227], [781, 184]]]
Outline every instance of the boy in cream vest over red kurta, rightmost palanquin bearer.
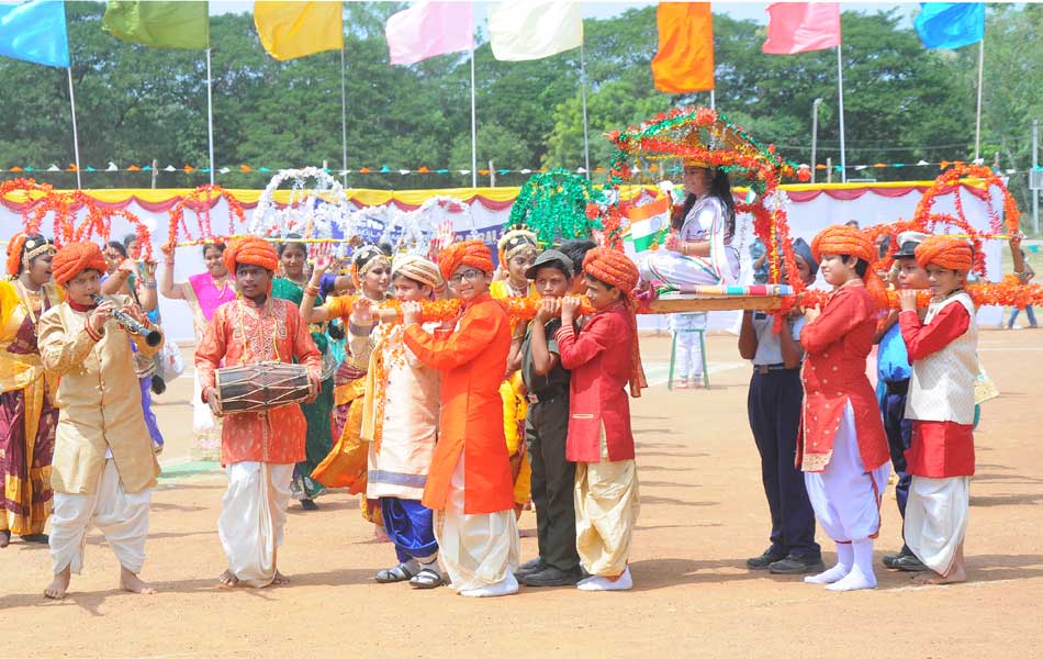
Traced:
[[906, 503], [906, 544], [931, 569], [917, 583], [966, 581], [963, 540], [974, 476], [974, 381], [978, 331], [974, 302], [964, 291], [974, 263], [960, 238], [931, 236], [917, 247], [927, 270], [931, 304], [921, 324], [915, 291], [899, 297], [898, 323], [909, 350], [912, 378], [906, 418], [912, 446], [906, 451], [912, 483]]

